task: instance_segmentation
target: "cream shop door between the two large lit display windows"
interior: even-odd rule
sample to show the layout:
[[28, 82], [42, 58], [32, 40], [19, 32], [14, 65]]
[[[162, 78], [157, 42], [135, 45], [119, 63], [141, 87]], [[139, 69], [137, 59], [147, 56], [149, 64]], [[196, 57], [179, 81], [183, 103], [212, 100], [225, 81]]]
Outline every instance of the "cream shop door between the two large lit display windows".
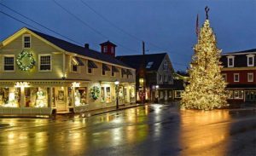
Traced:
[[66, 92], [64, 88], [57, 88], [56, 90], [56, 109], [57, 111], [67, 111]]

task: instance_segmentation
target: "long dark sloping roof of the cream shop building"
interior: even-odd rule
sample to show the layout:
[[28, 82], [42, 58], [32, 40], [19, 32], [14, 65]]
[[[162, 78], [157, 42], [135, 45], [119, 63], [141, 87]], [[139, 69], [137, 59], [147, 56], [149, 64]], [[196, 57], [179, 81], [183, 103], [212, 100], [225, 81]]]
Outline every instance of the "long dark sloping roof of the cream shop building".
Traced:
[[131, 67], [131, 66], [127, 66], [125, 63], [123, 63], [122, 61], [119, 61], [115, 58], [113, 58], [113, 56], [110, 55], [105, 55], [102, 54], [96, 50], [93, 49], [86, 49], [84, 47], [81, 47], [79, 45], [73, 44], [73, 43], [69, 43], [65, 40], [62, 40], [60, 38], [55, 38], [52, 36], [49, 36], [47, 34], [44, 34], [42, 32], [37, 32], [35, 30], [29, 29], [30, 31], [36, 33], [38, 36], [40, 36], [41, 38], [46, 39], [47, 41], [49, 41], [50, 43], [55, 44], [56, 46], [60, 47], [61, 49], [64, 49], [68, 52], [72, 52], [78, 55], [84, 55], [96, 60], [100, 60], [100, 61], [106, 61], [109, 63], [113, 63], [119, 66], [126, 66], [126, 67]]

